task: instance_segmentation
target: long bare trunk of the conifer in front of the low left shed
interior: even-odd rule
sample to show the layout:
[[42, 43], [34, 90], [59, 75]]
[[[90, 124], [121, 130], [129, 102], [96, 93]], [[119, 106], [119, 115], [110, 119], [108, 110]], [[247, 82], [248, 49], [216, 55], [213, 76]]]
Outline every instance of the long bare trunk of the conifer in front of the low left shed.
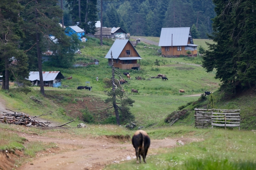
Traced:
[[[35, 0], [35, 4], [37, 4], [37, 0]], [[35, 9], [35, 18], [37, 19], [37, 10]], [[36, 22], [37, 24], [37, 22]], [[39, 71], [39, 80], [40, 80], [40, 91], [43, 96], [45, 96], [45, 88], [44, 88], [44, 80], [43, 80], [43, 71], [42, 71], [42, 57], [41, 57], [41, 50], [39, 46], [39, 32], [37, 30], [36, 38], [37, 38], [37, 62], [38, 62], [38, 71]]]

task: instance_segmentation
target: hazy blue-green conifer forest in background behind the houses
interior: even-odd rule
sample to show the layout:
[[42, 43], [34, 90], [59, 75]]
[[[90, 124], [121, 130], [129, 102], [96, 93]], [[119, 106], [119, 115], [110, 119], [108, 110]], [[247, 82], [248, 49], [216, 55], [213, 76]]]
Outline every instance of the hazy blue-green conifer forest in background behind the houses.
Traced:
[[122, 27], [132, 35], [160, 36], [162, 27], [192, 27], [196, 37], [208, 38], [211, 18], [215, 16], [211, 0], [119, 0], [105, 1], [104, 27]]

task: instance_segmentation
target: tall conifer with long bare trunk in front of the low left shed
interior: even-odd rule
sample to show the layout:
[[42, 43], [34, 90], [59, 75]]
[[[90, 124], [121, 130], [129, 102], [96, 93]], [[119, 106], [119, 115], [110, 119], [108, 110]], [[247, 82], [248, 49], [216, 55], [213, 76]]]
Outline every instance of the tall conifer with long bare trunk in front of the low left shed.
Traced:
[[[59, 26], [59, 19], [62, 17], [63, 11], [57, 5], [58, 0], [22, 0], [25, 5], [21, 16], [24, 18], [23, 30], [28, 37], [25, 44], [36, 45], [37, 64], [40, 79], [40, 91], [45, 95], [43, 73], [42, 73], [42, 52], [46, 51], [44, 42], [50, 42], [48, 36], [54, 35], [59, 37], [63, 33], [63, 29]], [[64, 35], [64, 34], [63, 34]]]

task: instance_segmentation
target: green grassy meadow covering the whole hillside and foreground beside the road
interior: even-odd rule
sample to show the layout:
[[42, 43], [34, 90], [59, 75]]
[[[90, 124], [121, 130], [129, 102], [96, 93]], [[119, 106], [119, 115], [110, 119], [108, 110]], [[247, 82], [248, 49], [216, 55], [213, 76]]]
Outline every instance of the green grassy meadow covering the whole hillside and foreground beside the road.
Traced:
[[[158, 37], [145, 37], [157, 41]], [[195, 44], [204, 45], [206, 40], [194, 39]], [[70, 123], [70, 128], [41, 130], [40, 128], [26, 128], [16, 125], [0, 124], [0, 150], [24, 150], [24, 152], [33, 157], [39, 150], [54, 147], [54, 144], [30, 143], [24, 138], [19, 137], [16, 132], [37, 133], [40, 135], [49, 135], [48, 132], [59, 131], [69, 133], [79, 137], [88, 135], [96, 137], [101, 135], [130, 135], [135, 130], [128, 130], [122, 124], [121, 127], [111, 125], [115, 118], [113, 113], [102, 115], [103, 110], [107, 108], [104, 99], [107, 98], [106, 90], [102, 80], [111, 77], [111, 67], [108, 66], [108, 60], [105, 55], [113, 44], [113, 40], [104, 39], [104, 46], [100, 47], [99, 40], [88, 38], [88, 42], [81, 43], [82, 54], [76, 55], [76, 63], [91, 62], [92, 58], [99, 60], [99, 65], [90, 65], [78, 68], [59, 68], [51, 67], [49, 64], [43, 64], [44, 71], [61, 71], [63, 75], [71, 80], [63, 80], [62, 85], [69, 86], [64, 88], [45, 88], [46, 97], [39, 92], [39, 87], [31, 87], [28, 93], [20, 92], [16, 87], [11, 87], [10, 91], [0, 90], [0, 97], [6, 102], [6, 107], [15, 111], [28, 113], [30, 115], [41, 115], [42, 119], [50, 120], [63, 124], [75, 119]], [[211, 42], [208, 40], [208, 42]], [[200, 44], [201, 43], [201, 44]], [[146, 46], [147, 48], [144, 48]], [[219, 88], [219, 80], [214, 79], [215, 71], [207, 73], [204, 68], [199, 66], [202, 62], [200, 57], [182, 57], [182, 58], [162, 58], [157, 53], [159, 48], [154, 45], [144, 43], [138, 44], [136, 50], [143, 58], [141, 69], [128, 70], [131, 73], [132, 80], [124, 84], [126, 95], [135, 100], [131, 108], [135, 116], [137, 126], [145, 126], [151, 139], [164, 138], [196, 138], [199, 142], [185, 144], [176, 148], [159, 148], [150, 151], [147, 157], [147, 164], [135, 164], [135, 160], [123, 161], [119, 164], [108, 165], [106, 170], [130, 170], [130, 169], [152, 169], [152, 170], [216, 170], [216, 169], [256, 169], [255, 165], [255, 131], [223, 130], [223, 128], [214, 129], [196, 129], [193, 126], [194, 112], [191, 111], [187, 117], [177, 121], [173, 126], [164, 122], [164, 119], [178, 110], [179, 106], [186, 105], [188, 102], [197, 101], [199, 97], [185, 97], [186, 95], [202, 94], [204, 91], [216, 91], [213, 93], [216, 97], [216, 108], [222, 109], [241, 109], [241, 128], [253, 130], [255, 125], [255, 94], [237, 97], [226, 97]], [[156, 68], [154, 61], [160, 61], [160, 67]], [[122, 73], [127, 70], [119, 71]], [[169, 80], [152, 79], [159, 73], [166, 75]], [[145, 80], [135, 80], [136, 76], [141, 76]], [[99, 81], [96, 81], [96, 77]], [[92, 91], [76, 90], [78, 86], [85, 86], [89, 81], [93, 86]], [[88, 85], [88, 84], [87, 84]], [[137, 89], [139, 93], [132, 94], [131, 89]], [[185, 90], [185, 93], [178, 93], [179, 89]], [[35, 103], [30, 99], [33, 96], [40, 100], [43, 105]], [[200, 107], [207, 107], [208, 100], [194, 102], [185, 109], [193, 109], [195, 104]], [[193, 105], [193, 106], [192, 106]], [[87, 110], [89, 109], [89, 111]], [[75, 128], [78, 123], [84, 122], [83, 113], [93, 115], [94, 122], [86, 122], [87, 130]], [[107, 121], [105, 121], [107, 120]], [[112, 120], [112, 122], [111, 122]], [[113, 121], [114, 120], [114, 121]], [[52, 136], [50, 136], [52, 137]], [[11, 139], [9, 139], [11, 138]], [[8, 142], [7, 142], [8, 141]], [[177, 143], [178, 144], [178, 143]], [[39, 147], [40, 146], [40, 147]], [[153, 154], [154, 152], [154, 154]]]

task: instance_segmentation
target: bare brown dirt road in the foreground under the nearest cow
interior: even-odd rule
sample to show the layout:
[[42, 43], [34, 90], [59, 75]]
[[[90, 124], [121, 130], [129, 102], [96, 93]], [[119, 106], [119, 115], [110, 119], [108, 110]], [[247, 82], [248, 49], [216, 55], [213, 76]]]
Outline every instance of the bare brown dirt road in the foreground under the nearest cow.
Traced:
[[[20, 133], [28, 141], [55, 143], [58, 148], [48, 149], [47, 155], [41, 155], [34, 161], [22, 165], [18, 170], [100, 170], [111, 163], [135, 159], [135, 151], [130, 139], [123, 142], [112, 137], [72, 137], [69, 134], [52, 132], [52, 137], [43, 137]], [[152, 140], [148, 155], [155, 154], [157, 148], [169, 148], [198, 141], [193, 138]], [[31, 165], [32, 164], [32, 165]]]

